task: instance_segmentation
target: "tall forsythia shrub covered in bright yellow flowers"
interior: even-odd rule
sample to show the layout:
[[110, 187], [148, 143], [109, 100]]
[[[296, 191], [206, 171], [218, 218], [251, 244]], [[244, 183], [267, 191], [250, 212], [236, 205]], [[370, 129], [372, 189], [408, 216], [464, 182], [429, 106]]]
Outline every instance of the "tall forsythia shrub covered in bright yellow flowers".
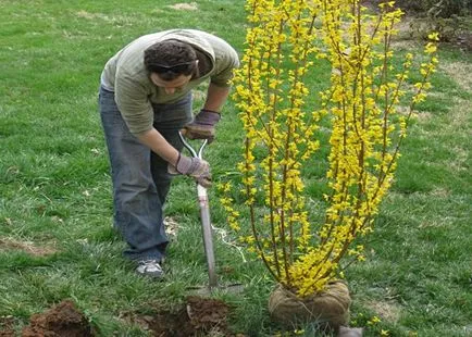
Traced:
[[[238, 164], [245, 201], [222, 203], [235, 230], [245, 212], [251, 235], [243, 240], [280, 284], [305, 297], [343, 276], [341, 259], [364, 259], [355, 240], [372, 232], [392, 184], [414, 104], [431, 86], [437, 36], [425, 48], [421, 80], [410, 84], [413, 55], [396, 67], [390, 49], [402, 14], [394, 2], [375, 15], [348, 0], [247, 0], [246, 7], [250, 28], [234, 78], [246, 134]], [[321, 92], [306, 85], [315, 64], [331, 65], [330, 87]], [[409, 108], [400, 109], [405, 101]], [[315, 137], [323, 121], [328, 143]], [[302, 174], [321, 146], [330, 147], [330, 192], [324, 223], [315, 223]], [[222, 188], [233, 190], [229, 183]]]

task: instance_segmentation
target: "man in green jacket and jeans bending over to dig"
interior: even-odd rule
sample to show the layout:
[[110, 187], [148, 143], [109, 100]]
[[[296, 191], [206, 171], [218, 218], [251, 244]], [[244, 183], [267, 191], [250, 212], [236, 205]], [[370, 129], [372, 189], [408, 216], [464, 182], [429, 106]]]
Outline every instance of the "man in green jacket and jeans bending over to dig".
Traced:
[[[167, 238], [162, 207], [173, 173], [211, 185], [209, 164], [181, 153], [178, 130], [213, 140], [229, 93], [236, 51], [194, 29], [142, 36], [112, 57], [101, 74], [99, 108], [113, 183], [114, 226], [136, 272], [163, 276]], [[207, 99], [192, 117], [191, 89], [209, 80]]]

